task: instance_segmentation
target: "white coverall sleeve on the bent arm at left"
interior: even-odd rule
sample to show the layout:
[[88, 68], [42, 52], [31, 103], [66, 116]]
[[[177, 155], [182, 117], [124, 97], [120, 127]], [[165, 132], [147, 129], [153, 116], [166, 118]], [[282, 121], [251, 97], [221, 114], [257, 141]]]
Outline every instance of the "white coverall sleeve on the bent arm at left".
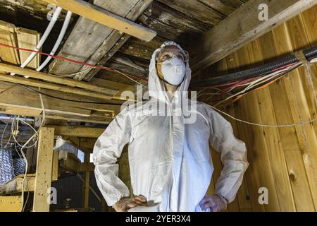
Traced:
[[94, 145], [94, 174], [101, 194], [108, 206], [113, 206], [120, 198], [129, 196], [128, 187], [118, 177], [117, 162], [123, 147], [130, 140], [130, 117], [126, 109], [111, 121]]

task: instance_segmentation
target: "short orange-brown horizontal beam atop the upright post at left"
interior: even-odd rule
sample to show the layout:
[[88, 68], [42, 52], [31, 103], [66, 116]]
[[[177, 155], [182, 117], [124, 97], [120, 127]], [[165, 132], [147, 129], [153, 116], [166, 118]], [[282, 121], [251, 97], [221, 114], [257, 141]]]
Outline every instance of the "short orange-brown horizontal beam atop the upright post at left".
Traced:
[[51, 126], [57, 136], [76, 136], [85, 138], [98, 138], [104, 132], [104, 128], [86, 126]]

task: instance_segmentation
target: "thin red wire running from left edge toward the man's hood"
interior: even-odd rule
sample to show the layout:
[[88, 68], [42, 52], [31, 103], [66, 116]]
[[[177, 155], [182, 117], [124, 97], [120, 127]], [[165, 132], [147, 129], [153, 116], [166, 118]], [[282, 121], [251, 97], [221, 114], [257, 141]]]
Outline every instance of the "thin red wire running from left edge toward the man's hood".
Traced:
[[[11, 46], [11, 45], [4, 44], [4, 43], [1, 43], [1, 42], [0, 42], [0, 45], [3, 46], [3, 47], [11, 48], [11, 49], [18, 49], [18, 50], [27, 51], [27, 52], [35, 52], [35, 53], [37, 53], [37, 54], [46, 55], [46, 56], [49, 56], [49, 57], [54, 58], [54, 59], [62, 59], [63, 61], [70, 61], [70, 62], [73, 62], [73, 63], [75, 63], [75, 64], [81, 64], [81, 65], [91, 66], [91, 67], [96, 68], [96, 69], [101, 69], [101, 70], [105, 70], [105, 71], [112, 71], [112, 72], [118, 73], [116, 70], [107, 68], [107, 67], [105, 67], [105, 66], [97, 66], [97, 65], [94, 65], [94, 64], [87, 64], [87, 63], [85, 63], [85, 62], [75, 61], [74, 59], [69, 59], [69, 58], [66, 58], [66, 57], [60, 57], [60, 56], [56, 56], [56, 55], [46, 54], [45, 52], [39, 52], [39, 51], [36, 51], [36, 50], [34, 50], [34, 49], [25, 49], [25, 48], [20, 48], [20, 47], [13, 47], [13, 46]], [[123, 72], [120, 72], [120, 73], [123, 73]], [[129, 73], [123, 73], [123, 74], [125, 74], [126, 76], [129, 76], [130, 78], [137, 78], [137, 79], [139, 79], [139, 80], [148, 81], [147, 78], [142, 78], [142, 77], [139, 77], [139, 76], [134, 76], [134, 75], [129, 74]]]

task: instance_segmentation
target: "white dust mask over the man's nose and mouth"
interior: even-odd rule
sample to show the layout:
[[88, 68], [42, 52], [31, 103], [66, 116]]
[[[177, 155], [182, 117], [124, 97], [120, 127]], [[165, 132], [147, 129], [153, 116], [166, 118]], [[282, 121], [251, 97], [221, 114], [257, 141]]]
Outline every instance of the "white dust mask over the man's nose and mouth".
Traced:
[[178, 57], [173, 56], [161, 64], [164, 80], [171, 85], [180, 85], [185, 76], [185, 64]]

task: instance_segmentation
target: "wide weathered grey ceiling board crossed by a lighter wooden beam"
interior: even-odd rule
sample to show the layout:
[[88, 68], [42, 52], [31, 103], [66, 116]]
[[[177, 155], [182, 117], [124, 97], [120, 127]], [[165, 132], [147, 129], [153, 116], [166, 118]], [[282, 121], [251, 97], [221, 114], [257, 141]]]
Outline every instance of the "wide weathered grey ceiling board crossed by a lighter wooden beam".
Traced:
[[[135, 21], [151, 2], [152, 0], [94, 0], [92, 4], [128, 20]], [[129, 37], [130, 35], [128, 34], [80, 17], [65, 44], [63, 44], [61, 51], [58, 52], [58, 56], [70, 57], [89, 64], [104, 65]], [[82, 80], [85, 78], [85, 80], [89, 81], [90, 78], [99, 72], [99, 69], [87, 70], [87, 66], [53, 60], [49, 66], [49, 71], [55, 74], [82, 71], [75, 76], [75, 79]]]

